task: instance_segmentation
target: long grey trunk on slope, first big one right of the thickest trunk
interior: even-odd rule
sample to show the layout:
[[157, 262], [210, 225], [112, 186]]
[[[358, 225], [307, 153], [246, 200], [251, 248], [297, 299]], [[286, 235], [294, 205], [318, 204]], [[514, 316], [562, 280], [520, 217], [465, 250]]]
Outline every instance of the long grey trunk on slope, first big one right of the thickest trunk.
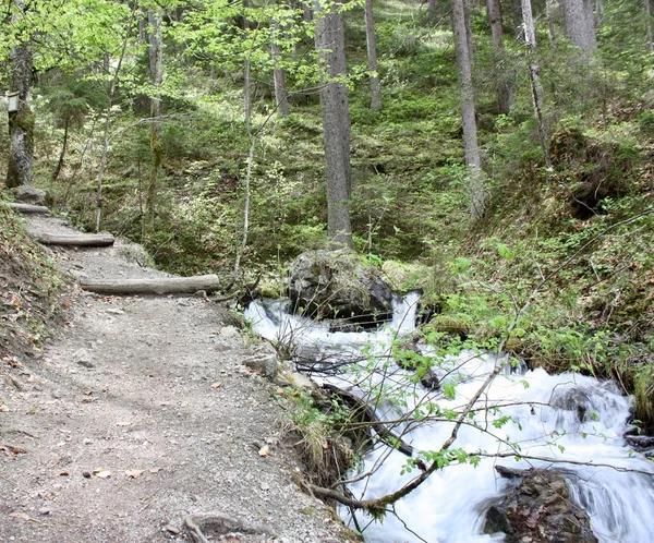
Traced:
[[465, 166], [468, 167], [468, 195], [470, 198], [470, 214], [477, 219], [484, 213], [486, 195], [484, 191], [483, 174], [477, 145], [476, 122], [474, 111], [474, 93], [472, 86], [472, 63], [470, 45], [465, 31], [464, 0], [452, 1], [452, 31], [455, 34], [455, 52], [457, 68], [459, 69], [459, 86], [461, 92], [461, 118], [463, 124], [463, 147], [465, 150]]

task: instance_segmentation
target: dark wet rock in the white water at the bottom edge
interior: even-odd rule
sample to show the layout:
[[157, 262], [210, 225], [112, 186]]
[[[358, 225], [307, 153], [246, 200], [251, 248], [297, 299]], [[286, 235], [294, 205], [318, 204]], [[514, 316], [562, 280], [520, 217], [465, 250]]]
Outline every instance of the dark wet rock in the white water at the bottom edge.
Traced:
[[560, 472], [497, 469], [513, 481], [502, 502], [486, 512], [485, 533], [506, 533], [505, 543], [596, 543], [591, 520], [570, 499]]

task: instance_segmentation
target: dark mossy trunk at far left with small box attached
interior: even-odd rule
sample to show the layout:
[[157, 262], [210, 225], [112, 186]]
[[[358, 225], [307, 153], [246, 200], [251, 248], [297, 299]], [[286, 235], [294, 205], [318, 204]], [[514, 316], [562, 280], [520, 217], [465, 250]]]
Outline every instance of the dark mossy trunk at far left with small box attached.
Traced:
[[[15, 1], [19, 11], [24, 2]], [[16, 22], [16, 15], [12, 15]], [[7, 186], [20, 186], [32, 181], [34, 161], [34, 113], [29, 109], [29, 85], [32, 83], [32, 48], [29, 41], [15, 46], [10, 57], [11, 90], [19, 93], [19, 109], [9, 113], [9, 164]]]

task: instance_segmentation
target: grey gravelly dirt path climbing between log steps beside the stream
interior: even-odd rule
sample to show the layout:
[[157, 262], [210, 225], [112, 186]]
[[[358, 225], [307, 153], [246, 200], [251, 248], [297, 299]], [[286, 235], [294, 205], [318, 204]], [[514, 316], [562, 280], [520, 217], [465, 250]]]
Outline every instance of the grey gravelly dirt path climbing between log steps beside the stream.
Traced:
[[[31, 229], [71, 231], [57, 218]], [[165, 275], [120, 244], [53, 255], [77, 277]], [[183, 519], [202, 512], [272, 534], [226, 541], [343, 540], [292, 482], [272, 386], [242, 365], [217, 304], [81, 292], [73, 315], [43, 360], [24, 361], [22, 390], [0, 384], [1, 542], [190, 541]]]

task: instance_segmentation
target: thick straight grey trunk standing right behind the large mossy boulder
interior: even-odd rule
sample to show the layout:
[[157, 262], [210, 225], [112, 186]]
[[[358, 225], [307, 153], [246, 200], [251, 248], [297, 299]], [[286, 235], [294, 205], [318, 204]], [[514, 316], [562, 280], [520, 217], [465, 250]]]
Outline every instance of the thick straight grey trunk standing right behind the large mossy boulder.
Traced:
[[325, 10], [316, 1], [316, 50], [325, 68], [320, 86], [320, 108], [325, 133], [325, 174], [327, 178], [327, 233], [336, 246], [352, 246], [350, 194], [350, 113], [346, 75], [346, 34], [339, 4]]

